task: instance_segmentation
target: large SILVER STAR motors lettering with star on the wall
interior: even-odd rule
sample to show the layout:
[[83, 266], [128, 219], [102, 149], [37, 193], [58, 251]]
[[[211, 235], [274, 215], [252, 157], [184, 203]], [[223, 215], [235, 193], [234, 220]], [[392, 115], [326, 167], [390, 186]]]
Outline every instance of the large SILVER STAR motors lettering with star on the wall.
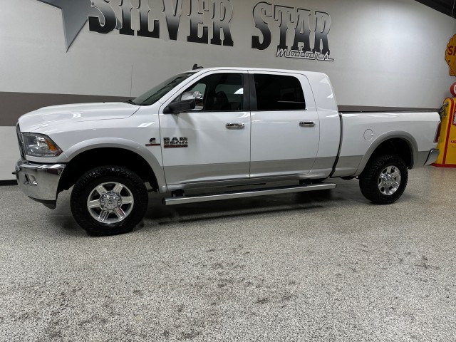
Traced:
[[[67, 51], [87, 21], [89, 31], [96, 33], [118, 31], [128, 36], [169, 37], [171, 41], [177, 41], [178, 33], [185, 31], [186, 40], [190, 43], [234, 46], [231, 33], [234, 7], [231, 0], [38, 1], [61, 9]], [[187, 6], [183, 6], [184, 2]], [[275, 50], [276, 57], [333, 61], [329, 57], [331, 16], [328, 13], [269, 4], [266, 1], [254, 5], [252, 12], [253, 49], [269, 48], [272, 31], [277, 30], [279, 42]], [[183, 16], [190, 19], [190, 27], [182, 26]], [[204, 24], [203, 19], [208, 17], [210, 24]], [[160, 31], [162, 27], [165, 27], [166, 32]], [[292, 46], [287, 46], [287, 39], [293, 40]], [[311, 41], [314, 43], [311, 44]]]

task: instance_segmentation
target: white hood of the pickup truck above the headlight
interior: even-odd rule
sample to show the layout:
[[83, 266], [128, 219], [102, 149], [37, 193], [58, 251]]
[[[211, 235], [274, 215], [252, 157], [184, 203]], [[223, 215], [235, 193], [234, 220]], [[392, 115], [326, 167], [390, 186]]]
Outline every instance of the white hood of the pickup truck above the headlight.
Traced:
[[81, 103], [78, 105], [53, 105], [24, 114], [19, 118], [22, 132], [33, 132], [38, 128], [61, 123], [124, 119], [140, 108], [130, 103]]

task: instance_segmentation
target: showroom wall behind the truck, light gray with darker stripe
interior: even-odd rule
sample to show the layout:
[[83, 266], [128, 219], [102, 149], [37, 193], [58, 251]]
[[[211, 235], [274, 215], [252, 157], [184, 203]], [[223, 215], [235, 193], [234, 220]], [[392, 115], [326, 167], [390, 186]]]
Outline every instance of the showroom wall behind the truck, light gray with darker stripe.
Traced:
[[0, 0], [0, 180], [21, 114], [140, 95], [194, 63], [323, 71], [341, 106], [438, 108], [455, 28], [413, 0]]

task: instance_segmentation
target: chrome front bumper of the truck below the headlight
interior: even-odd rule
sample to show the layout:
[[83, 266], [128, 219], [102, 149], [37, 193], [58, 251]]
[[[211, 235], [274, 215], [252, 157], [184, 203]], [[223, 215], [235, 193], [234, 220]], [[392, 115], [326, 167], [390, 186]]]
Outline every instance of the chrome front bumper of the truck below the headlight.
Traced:
[[16, 179], [19, 189], [38, 202], [57, 199], [58, 182], [66, 165], [33, 164], [26, 160], [16, 163]]

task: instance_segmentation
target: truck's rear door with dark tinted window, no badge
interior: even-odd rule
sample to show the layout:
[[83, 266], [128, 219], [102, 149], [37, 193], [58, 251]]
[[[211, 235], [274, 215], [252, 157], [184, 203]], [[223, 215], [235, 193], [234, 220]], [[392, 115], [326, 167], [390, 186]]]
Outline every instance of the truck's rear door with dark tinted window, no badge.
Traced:
[[251, 177], [309, 173], [320, 133], [308, 79], [295, 73], [249, 71], [249, 80]]

